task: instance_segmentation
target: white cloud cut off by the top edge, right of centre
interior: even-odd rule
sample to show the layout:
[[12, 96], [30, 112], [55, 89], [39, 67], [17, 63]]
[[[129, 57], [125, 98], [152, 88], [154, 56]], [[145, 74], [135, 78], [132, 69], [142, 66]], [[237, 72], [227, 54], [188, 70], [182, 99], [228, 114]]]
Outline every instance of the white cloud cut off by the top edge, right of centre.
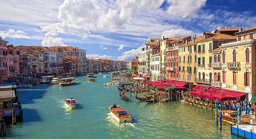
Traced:
[[167, 0], [170, 6], [166, 13], [172, 16], [185, 18], [189, 15], [197, 14], [206, 4], [206, 0]]

